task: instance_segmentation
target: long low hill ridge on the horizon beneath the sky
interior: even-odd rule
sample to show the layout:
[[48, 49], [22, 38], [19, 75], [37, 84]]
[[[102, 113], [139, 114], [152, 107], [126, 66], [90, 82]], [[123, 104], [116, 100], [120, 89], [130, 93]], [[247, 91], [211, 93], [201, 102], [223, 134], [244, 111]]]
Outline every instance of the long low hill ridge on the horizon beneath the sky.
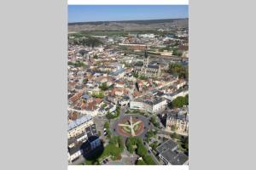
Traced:
[[189, 19], [163, 20], [122, 20], [68, 23], [68, 31], [100, 31], [100, 30], [152, 30], [166, 27], [187, 27]]

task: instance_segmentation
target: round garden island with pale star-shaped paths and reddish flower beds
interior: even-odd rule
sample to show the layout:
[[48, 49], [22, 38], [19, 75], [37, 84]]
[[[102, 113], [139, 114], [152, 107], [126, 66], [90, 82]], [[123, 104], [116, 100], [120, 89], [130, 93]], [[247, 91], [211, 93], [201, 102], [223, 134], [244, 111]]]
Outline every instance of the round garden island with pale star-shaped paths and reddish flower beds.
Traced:
[[124, 137], [143, 136], [148, 130], [147, 125], [145, 116], [125, 115], [113, 123], [113, 131]]

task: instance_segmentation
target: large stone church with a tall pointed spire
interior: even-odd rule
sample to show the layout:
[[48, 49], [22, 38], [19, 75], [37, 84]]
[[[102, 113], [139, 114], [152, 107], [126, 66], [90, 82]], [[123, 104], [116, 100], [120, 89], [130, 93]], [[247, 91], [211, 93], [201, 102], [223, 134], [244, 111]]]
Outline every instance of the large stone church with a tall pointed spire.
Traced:
[[147, 48], [145, 50], [143, 66], [136, 66], [135, 72], [138, 76], [143, 77], [160, 77], [161, 69], [160, 65], [150, 65]]

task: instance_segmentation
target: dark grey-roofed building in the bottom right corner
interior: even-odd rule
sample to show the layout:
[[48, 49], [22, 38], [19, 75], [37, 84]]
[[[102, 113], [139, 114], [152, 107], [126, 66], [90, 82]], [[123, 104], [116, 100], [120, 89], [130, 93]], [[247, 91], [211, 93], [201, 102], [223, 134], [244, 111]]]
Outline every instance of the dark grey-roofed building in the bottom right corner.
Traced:
[[189, 156], [177, 151], [177, 144], [171, 139], [156, 148], [160, 160], [166, 165], [189, 165]]

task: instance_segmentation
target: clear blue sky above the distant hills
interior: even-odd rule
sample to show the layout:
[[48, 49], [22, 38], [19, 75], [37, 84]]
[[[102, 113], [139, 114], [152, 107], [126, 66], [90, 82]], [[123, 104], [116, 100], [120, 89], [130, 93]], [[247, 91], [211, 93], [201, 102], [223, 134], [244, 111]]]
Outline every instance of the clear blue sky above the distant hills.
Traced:
[[189, 17], [189, 5], [68, 5], [68, 23]]

